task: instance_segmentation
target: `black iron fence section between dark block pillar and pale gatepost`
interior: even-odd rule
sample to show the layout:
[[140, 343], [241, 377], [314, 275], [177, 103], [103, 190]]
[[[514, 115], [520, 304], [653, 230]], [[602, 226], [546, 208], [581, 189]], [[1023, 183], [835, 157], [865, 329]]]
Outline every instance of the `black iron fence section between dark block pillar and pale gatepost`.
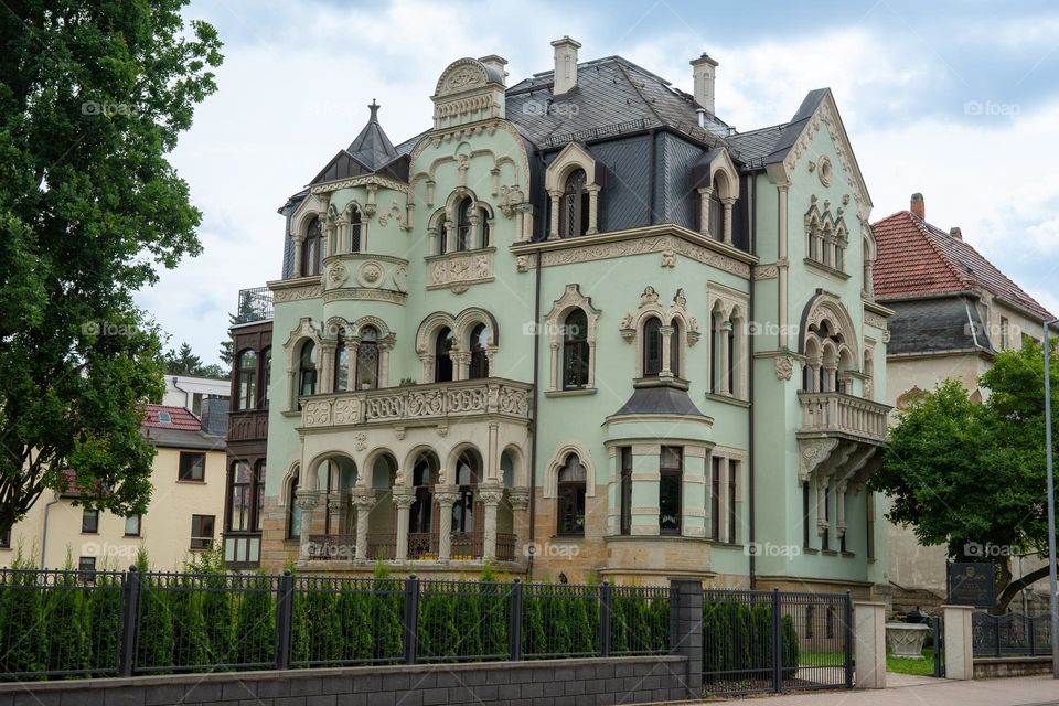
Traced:
[[853, 685], [848, 593], [707, 590], [703, 598], [707, 694]]

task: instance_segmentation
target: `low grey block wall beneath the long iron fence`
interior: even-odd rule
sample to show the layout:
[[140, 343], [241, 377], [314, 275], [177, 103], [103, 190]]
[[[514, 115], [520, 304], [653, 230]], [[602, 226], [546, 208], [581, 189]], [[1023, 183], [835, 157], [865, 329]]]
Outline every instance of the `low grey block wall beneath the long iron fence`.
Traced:
[[684, 656], [227, 672], [0, 684], [0, 706], [609, 706], [687, 698]]

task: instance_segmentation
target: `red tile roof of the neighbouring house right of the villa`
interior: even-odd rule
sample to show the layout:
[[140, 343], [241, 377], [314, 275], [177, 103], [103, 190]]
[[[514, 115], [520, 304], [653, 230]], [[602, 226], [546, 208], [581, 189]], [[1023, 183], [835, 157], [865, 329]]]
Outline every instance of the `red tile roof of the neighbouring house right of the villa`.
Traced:
[[909, 211], [877, 221], [871, 231], [878, 244], [874, 284], [880, 301], [981, 288], [1042, 319], [1052, 318], [971, 245]]

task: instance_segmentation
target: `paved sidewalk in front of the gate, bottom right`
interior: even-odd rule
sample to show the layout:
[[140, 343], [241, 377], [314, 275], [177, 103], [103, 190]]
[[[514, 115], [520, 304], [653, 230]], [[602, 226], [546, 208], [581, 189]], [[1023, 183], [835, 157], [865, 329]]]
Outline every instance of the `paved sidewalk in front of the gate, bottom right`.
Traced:
[[976, 682], [932, 680], [930, 684], [878, 691], [821, 692], [732, 700], [746, 706], [1059, 706], [1059, 681], [1050, 675]]

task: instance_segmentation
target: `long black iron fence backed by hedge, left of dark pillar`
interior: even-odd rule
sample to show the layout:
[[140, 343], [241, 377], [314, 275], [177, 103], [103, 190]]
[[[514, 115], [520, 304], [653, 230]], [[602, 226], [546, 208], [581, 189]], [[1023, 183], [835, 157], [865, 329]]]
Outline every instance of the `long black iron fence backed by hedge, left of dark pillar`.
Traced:
[[0, 570], [2, 678], [665, 654], [670, 588]]

